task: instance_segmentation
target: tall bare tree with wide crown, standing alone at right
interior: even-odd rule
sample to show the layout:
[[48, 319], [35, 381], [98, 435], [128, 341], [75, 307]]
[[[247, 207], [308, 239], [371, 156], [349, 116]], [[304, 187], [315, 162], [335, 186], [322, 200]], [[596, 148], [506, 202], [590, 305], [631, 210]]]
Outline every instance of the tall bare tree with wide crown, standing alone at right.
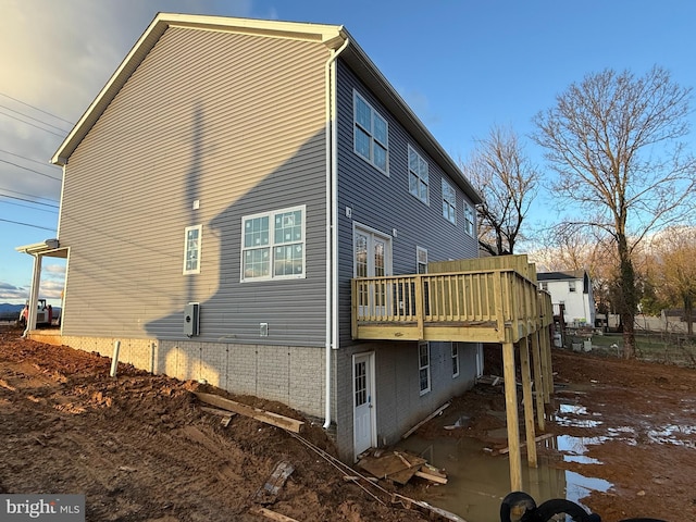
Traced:
[[634, 249], [694, 212], [696, 163], [680, 141], [691, 92], [658, 66], [643, 77], [606, 70], [572, 84], [535, 116], [534, 139], [559, 175], [556, 196], [579, 212], [566, 224], [599, 228], [616, 247], [625, 358], [635, 357]]

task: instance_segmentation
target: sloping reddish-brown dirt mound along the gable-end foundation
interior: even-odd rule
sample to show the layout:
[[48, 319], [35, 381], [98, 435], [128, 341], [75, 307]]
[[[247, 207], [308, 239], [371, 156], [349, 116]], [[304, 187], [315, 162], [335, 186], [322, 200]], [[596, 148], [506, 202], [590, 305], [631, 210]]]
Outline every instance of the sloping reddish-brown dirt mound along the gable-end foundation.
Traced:
[[[18, 334], [0, 333], [0, 490], [86, 494], [87, 520], [261, 520], [249, 513], [256, 494], [287, 461], [295, 471], [266, 506], [273, 511], [424, 520], [380, 504], [283, 430], [243, 415], [225, 427], [191, 394], [210, 387], [126, 364], [111, 378], [108, 358]], [[301, 419], [277, 402], [234, 399]], [[306, 422], [302, 437], [335, 455], [322, 427]]]

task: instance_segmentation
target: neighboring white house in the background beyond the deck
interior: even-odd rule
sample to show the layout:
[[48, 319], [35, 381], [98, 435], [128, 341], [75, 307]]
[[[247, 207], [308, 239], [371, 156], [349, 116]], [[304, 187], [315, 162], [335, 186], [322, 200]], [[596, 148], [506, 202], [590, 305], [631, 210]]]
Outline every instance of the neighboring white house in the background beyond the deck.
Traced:
[[563, 321], [567, 324], [595, 325], [595, 299], [586, 271], [539, 272], [536, 276], [539, 288], [551, 295], [554, 308], [564, 306]]

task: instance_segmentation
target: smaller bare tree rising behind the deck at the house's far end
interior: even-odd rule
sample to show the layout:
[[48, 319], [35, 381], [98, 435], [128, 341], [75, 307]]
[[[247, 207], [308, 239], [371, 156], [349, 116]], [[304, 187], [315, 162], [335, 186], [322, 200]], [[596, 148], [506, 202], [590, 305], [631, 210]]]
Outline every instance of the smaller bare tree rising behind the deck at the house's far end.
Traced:
[[462, 170], [485, 201], [476, 209], [478, 245], [492, 256], [514, 253], [539, 178], [518, 135], [508, 127], [492, 127], [487, 138], [476, 141]]

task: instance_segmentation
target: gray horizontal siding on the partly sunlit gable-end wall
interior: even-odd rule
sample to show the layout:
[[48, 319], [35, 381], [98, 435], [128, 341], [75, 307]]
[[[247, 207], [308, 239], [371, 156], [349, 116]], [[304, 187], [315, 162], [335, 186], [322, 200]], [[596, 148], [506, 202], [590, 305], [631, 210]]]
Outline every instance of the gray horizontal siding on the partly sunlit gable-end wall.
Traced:
[[[66, 166], [64, 335], [184, 339], [197, 301], [197, 340], [323, 346], [327, 57], [315, 42], [164, 33]], [[300, 204], [306, 278], [240, 283], [241, 217]], [[183, 275], [198, 224], [200, 273]]]

